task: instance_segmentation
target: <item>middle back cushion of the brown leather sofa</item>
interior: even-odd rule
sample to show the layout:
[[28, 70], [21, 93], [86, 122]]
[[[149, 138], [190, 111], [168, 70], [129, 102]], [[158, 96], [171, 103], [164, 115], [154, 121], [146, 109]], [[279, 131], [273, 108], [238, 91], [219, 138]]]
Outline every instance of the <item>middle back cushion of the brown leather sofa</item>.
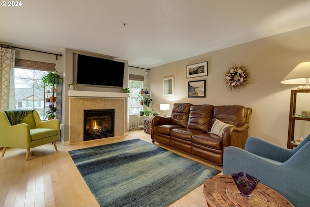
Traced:
[[192, 105], [189, 111], [187, 128], [209, 132], [211, 127], [212, 112], [212, 105]]

